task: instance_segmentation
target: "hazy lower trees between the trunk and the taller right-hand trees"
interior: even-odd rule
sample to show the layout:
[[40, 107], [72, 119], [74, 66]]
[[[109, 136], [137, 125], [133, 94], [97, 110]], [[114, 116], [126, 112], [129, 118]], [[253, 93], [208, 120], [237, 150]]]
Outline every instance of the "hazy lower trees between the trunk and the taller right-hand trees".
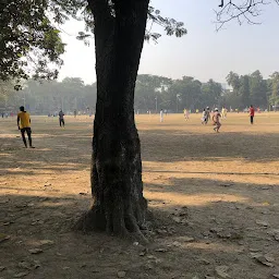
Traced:
[[[183, 76], [171, 80], [156, 75], [138, 75], [135, 88], [135, 110], [146, 112], [168, 109], [182, 111], [187, 109], [203, 109], [219, 104], [222, 87], [209, 80], [202, 83], [194, 77]], [[157, 100], [157, 101], [156, 101]]]

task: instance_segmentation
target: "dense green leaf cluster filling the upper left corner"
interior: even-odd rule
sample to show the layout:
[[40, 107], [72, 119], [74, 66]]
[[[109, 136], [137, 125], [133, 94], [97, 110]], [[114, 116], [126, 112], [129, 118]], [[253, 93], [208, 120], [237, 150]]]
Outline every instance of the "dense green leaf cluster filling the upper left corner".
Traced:
[[0, 0], [0, 80], [57, 77], [57, 69], [48, 65], [62, 64], [64, 45], [50, 10], [45, 0]]

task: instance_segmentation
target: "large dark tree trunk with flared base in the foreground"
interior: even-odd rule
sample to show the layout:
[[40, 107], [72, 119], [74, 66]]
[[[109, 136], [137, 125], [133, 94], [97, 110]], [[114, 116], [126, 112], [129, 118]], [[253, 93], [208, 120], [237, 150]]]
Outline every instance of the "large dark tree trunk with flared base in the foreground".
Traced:
[[77, 227], [122, 236], [141, 235], [141, 145], [134, 122], [134, 88], [149, 0], [88, 0], [95, 17], [97, 105], [92, 158], [93, 206]]

